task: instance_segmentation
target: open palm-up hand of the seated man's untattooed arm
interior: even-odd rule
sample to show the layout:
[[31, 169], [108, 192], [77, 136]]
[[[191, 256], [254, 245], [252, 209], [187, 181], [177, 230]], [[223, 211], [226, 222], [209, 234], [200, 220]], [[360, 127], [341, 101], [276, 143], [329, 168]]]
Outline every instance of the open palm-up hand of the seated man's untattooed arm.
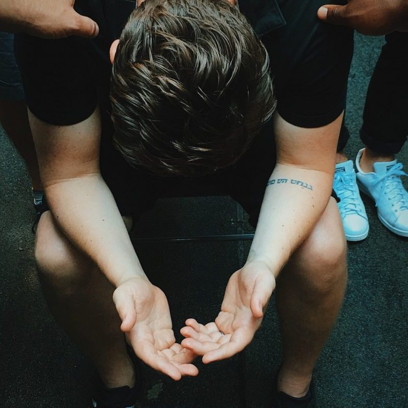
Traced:
[[120, 328], [142, 361], [174, 380], [198, 374], [190, 364], [194, 353], [175, 342], [169, 305], [158, 287], [144, 277], [131, 278], [115, 290], [113, 300]]

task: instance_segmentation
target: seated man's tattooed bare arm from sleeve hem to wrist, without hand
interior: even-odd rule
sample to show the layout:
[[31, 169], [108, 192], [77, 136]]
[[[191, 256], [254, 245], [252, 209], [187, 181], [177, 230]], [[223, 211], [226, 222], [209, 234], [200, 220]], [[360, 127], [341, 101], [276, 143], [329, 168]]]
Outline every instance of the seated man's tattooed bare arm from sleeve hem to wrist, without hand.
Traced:
[[247, 263], [265, 262], [276, 277], [311, 233], [330, 197], [342, 116], [318, 129], [275, 116], [277, 163]]

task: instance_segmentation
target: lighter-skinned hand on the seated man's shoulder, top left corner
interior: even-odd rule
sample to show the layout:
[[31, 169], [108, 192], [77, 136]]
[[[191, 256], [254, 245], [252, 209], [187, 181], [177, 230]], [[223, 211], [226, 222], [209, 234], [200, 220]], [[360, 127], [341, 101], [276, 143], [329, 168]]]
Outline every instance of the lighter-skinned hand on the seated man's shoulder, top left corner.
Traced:
[[96, 37], [98, 25], [73, 9], [74, 0], [1, 0], [0, 30], [43, 38]]

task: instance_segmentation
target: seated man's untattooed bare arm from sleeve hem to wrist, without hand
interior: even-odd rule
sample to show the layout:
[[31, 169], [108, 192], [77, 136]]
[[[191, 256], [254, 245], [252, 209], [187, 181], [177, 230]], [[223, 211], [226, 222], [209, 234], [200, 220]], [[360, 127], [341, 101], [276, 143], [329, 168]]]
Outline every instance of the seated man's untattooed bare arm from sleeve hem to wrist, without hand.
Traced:
[[99, 172], [98, 110], [69, 126], [29, 116], [45, 195], [61, 230], [116, 287], [131, 277], [145, 277]]

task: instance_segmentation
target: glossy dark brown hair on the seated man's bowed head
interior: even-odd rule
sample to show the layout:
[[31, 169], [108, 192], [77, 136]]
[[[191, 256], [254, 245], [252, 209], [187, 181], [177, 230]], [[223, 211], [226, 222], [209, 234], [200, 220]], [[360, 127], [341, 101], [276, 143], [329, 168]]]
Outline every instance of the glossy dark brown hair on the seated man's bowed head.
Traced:
[[120, 38], [114, 141], [160, 175], [235, 163], [275, 108], [268, 54], [226, 0], [146, 0]]

